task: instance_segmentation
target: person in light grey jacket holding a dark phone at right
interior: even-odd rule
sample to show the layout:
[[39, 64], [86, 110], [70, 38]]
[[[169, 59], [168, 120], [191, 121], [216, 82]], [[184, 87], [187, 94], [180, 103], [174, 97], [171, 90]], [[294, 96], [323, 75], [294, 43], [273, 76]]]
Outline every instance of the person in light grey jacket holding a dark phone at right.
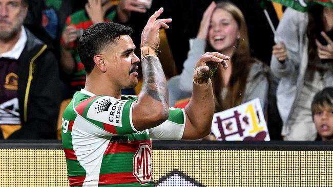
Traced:
[[280, 78], [277, 105], [285, 141], [316, 138], [311, 101], [316, 92], [333, 85], [331, 7], [314, 4], [308, 12], [287, 8], [277, 28], [270, 67]]

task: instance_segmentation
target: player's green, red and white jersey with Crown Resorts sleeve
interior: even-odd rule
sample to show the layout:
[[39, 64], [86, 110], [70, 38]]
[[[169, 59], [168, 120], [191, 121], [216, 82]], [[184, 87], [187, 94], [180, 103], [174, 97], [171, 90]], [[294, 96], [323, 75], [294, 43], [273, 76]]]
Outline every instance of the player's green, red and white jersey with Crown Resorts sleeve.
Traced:
[[150, 138], [180, 139], [185, 112], [171, 107], [168, 120], [139, 132], [132, 122], [136, 99], [75, 93], [61, 125], [71, 186], [153, 186]]

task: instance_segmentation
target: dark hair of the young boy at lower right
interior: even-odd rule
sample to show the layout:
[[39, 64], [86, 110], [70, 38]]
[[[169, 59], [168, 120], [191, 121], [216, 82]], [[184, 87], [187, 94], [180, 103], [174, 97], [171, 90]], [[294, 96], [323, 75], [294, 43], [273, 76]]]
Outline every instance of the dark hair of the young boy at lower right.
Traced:
[[312, 116], [326, 106], [333, 107], [333, 87], [326, 87], [316, 93], [311, 103]]

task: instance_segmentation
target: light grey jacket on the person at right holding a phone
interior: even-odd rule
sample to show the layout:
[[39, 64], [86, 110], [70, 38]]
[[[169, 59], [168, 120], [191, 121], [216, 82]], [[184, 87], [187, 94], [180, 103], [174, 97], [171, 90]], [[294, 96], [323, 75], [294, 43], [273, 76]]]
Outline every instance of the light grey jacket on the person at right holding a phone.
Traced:
[[[287, 8], [280, 20], [275, 35], [275, 42], [284, 42], [288, 58], [281, 63], [274, 55], [270, 67], [275, 76], [280, 78], [277, 90], [277, 105], [283, 121], [282, 135], [288, 136], [292, 131], [294, 121], [290, 120], [296, 104], [300, 100], [300, 93], [304, 84], [304, 75], [308, 65], [308, 38], [306, 28], [308, 14]], [[333, 85], [332, 70], [330, 76], [325, 76], [326, 86]], [[306, 129], [295, 129], [306, 130]]]

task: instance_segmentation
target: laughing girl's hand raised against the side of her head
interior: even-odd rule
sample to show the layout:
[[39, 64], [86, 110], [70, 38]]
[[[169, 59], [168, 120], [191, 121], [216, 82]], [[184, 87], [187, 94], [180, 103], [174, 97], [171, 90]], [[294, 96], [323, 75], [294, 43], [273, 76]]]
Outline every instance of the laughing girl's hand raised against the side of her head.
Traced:
[[208, 30], [209, 30], [209, 27], [211, 24], [211, 17], [212, 17], [212, 13], [213, 13], [215, 7], [216, 7], [216, 4], [213, 1], [211, 3], [211, 5], [203, 13], [197, 38], [207, 39]]

